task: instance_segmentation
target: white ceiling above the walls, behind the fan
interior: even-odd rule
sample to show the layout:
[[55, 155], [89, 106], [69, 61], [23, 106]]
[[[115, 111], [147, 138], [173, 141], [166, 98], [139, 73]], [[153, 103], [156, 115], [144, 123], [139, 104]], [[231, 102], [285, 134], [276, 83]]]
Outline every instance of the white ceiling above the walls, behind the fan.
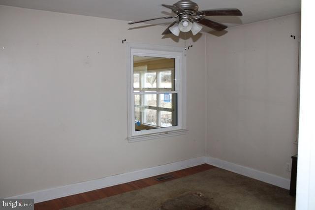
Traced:
[[[301, 0], [194, 0], [199, 10], [238, 8], [242, 17], [211, 17], [229, 27], [301, 12]], [[137, 21], [170, 15], [161, 4], [176, 0], [0, 0], [0, 4], [117, 20]], [[150, 21], [168, 24], [172, 20]], [[134, 26], [134, 25], [133, 25]]]

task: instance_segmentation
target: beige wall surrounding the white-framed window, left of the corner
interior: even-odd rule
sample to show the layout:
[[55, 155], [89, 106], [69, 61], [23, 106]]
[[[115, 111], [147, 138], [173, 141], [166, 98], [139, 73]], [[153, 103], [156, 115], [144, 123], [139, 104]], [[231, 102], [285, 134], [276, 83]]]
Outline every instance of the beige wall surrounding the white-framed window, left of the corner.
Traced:
[[[165, 27], [0, 6], [0, 197], [205, 155], [205, 38], [187, 45], [183, 136], [128, 143], [126, 43]], [[4, 49], [3, 49], [4, 47]]]

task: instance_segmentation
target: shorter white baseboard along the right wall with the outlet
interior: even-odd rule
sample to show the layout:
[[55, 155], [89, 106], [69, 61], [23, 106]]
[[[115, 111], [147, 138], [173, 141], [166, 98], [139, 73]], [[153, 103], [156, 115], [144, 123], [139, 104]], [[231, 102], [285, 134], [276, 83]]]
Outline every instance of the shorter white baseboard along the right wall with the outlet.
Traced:
[[206, 163], [216, 166], [227, 171], [231, 171], [246, 177], [250, 177], [255, 180], [260, 180], [269, 184], [273, 184], [284, 189], [290, 188], [290, 180], [278, 177], [276, 175], [261, 172], [252, 168], [237, 165], [235, 163], [227, 162], [218, 158], [206, 157]]

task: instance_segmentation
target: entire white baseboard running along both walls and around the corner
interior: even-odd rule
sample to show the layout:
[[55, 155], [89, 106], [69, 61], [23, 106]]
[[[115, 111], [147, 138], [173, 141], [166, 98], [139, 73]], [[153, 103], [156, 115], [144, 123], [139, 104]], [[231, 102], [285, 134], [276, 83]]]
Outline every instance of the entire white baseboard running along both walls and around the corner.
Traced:
[[260, 180], [267, 182], [285, 189], [289, 189], [290, 180], [278, 177], [265, 172], [257, 171], [245, 166], [237, 165], [227, 161], [223, 161], [217, 158], [203, 156], [196, 157], [188, 160], [183, 160], [175, 163], [169, 163], [166, 165], [156, 166], [152, 168], [142, 169], [139, 171], [128, 172], [125, 174], [119, 174], [115, 176], [105, 177], [98, 180], [84, 181], [75, 184], [69, 184], [65, 186], [60, 186], [51, 189], [45, 189], [41, 191], [26, 193], [23, 195], [12, 196], [9, 198], [32, 198], [34, 203], [39, 203], [43, 201], [48, 201], [56, 198], [61, 198], [69, 195], [74, 195], [78, 193], [88, 192], [95, 189], [100, 189], [104, 187], [109, 187], [117, 184], [126, 183], [129, 181], [140, 180], [148, 177], [153, 177], [159, 174], [164, 174], [172, 171], [177, 171], [192, 166], [201, 165], [207, 163], [237, 174], [244, 175], [246, 177], [253, 178], [255, 180]]

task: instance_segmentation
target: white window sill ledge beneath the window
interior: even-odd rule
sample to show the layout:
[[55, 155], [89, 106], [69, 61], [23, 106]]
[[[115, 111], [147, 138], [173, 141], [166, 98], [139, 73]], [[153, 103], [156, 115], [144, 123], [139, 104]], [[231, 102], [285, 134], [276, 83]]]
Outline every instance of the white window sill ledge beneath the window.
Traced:
[[128, 137], [127, 140], [129, 143], [132, 142], [140, 142], [140, 141], [146, 141], [151, 139], [158, 139], [158, 138], [165, 138], [165, 137], [171, 137], [171, 136], [179, 136], [186, 134], [188, 129], [181, 129], [181, 130], [172, 130], [167, 132], [160, 132], [160, 133], [152, 133], [152, 134], [144, 134], [139, 136], [131, 136]]

